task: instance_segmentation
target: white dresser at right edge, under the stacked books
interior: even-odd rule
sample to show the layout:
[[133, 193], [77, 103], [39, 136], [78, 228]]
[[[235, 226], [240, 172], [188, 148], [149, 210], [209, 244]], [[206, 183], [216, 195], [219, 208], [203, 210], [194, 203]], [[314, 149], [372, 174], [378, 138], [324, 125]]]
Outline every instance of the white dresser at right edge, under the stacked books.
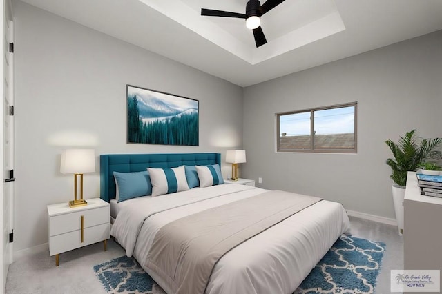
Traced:
[[421, 195], [414, 172], [407, 175], [403, 241], [405, 270], [442, 273], [442, 198]]

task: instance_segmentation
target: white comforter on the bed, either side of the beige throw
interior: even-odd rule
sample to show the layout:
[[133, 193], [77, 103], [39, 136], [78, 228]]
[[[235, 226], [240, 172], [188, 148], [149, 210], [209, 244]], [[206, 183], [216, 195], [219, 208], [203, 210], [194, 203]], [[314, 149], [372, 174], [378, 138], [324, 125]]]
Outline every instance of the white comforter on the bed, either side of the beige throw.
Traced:
[[[111, 235], [126, 248], [127, 256], [134, 255], [142, 265], [155, 233], [165, 224], [266, 191], [226, 184], [131, 199], [122, 202], [124, 207], [115, 219]], [[224, 255], [213, 268], [206, 293], [293, 293], [343, 233], [349, 233], [349, 219], [343, 206], [320, 201]], [[160, 286], [164, 284], [155, 273], [144, 270]]]

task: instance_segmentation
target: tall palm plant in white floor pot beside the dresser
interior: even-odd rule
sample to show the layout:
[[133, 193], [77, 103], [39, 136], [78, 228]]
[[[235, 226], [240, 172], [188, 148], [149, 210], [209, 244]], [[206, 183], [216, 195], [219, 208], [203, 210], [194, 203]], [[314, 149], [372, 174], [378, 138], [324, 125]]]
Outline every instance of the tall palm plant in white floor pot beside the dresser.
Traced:
[[385, 141], [393, 153], [393, 158], [387, 159], [386, 163], [392, 168], [390, 177], [395, 184], [392, 186], [394, 213], [398, 223], [399, 235], [403, 233], [403, 199], [405, 197], [405, 185], [407, 173], [414, 171], [428, 159], [442, 158], [441, 150], [437, 150], [442, 144], [442, 138], [421, 139], [417, 137], [416, 130], [410, 130], [401, 137], [398, 143], [392, 140]]

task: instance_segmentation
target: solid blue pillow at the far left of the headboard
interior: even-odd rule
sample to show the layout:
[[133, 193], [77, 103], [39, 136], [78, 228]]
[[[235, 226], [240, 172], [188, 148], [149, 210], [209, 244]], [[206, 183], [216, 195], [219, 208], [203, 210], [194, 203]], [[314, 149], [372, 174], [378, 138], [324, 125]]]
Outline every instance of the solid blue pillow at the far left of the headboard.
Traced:
[[152, 193], [151, 179], [147, 170], [135, 173], [113, 172], [113, 176], [117, 186], [118, 202]]

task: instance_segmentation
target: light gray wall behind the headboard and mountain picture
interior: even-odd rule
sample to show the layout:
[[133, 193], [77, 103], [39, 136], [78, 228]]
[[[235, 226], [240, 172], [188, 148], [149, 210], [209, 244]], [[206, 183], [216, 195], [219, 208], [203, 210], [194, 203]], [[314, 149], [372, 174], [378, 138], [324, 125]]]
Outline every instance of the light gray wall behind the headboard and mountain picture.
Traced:
[[[48, 242], [47, 204], [73, 199], [61, 150], [220, 152], [242, 146], [242, 88], [95, 30], [15, 3], [15, 251]], [[200, 101], [200, 146], [126, 144], [126, 84]], [[236, 106], [236, 107], [231, 107]], [[224, 164], [227, 177], [230, 166]]]

